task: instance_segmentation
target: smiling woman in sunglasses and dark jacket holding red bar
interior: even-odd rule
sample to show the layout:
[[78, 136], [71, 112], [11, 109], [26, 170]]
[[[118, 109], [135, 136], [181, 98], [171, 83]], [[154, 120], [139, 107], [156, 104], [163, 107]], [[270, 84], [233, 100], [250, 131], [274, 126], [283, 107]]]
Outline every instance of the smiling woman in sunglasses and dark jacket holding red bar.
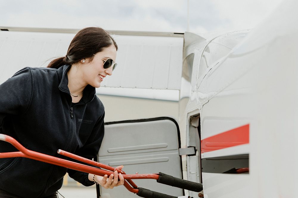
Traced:
[[[95, 95], [116, 66], [117, 44], [102, 28], [80, 30], [65, 57], [48, 68], [24, 68], [0, 85], [0, 133], [25, 148], [62, 157], [58, 149], [96, 157], [104, 135], [104, 107]], [[0, 141], [0, 152], [16, 149]], [[123, 166], [117, 168], [122, 169]], [[0, 197], [57, 197], [63, 176], [85, 186], [124, 183], [114, 172], [95, 176], [27, 158], [0, 159]]]

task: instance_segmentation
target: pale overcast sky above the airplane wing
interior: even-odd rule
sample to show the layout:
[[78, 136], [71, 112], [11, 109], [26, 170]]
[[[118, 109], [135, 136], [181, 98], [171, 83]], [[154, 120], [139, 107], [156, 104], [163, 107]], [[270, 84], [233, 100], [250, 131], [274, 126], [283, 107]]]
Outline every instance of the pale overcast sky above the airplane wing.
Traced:
[[0, 0], [0, 26], [184, 32], [189, 21], [192, 32], [226, 32], [254, 28], [281, 1]]

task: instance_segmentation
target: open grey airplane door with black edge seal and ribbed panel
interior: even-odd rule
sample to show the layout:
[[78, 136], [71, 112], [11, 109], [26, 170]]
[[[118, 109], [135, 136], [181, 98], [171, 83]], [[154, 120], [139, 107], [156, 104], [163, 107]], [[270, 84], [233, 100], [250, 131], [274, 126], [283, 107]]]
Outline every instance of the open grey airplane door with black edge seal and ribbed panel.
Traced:
[[[180, 134], [173, 118], [159, 117], [105, 123], [105, 135], [98, 161], [112, 167], [124, 165], [126, 174], [163, 172], [182, 178], [179, 156]], [[138, 187], [152, 191], [182, 196], [183, 190], [157, 183], [153, 179], [133, 180]], [[124, 186], [113, 190], [97, 186], [98, 198], [139, 197]]]

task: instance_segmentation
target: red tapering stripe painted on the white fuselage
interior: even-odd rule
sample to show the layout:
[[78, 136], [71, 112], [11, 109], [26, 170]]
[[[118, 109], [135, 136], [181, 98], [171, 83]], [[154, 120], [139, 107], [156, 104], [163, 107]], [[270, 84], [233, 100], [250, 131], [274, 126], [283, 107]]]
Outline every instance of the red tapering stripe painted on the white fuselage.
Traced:
[[249, 143], [249, 124], [201, 140], [201, 153]]

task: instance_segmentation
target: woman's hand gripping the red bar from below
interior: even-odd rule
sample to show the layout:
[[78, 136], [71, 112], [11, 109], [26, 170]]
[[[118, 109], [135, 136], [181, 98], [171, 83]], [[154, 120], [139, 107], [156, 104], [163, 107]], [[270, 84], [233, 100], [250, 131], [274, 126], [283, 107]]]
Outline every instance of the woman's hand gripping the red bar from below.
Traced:
[[[116, 167], [117, 169], [122, 170], [123, 165]], [[92, 179], [94, 175], [91, 175]], [[90, 177], [90, 174], [89, 174]], [[89, 178], [90, 180], [90, 178]], [[95, 175], [94, 180], [100, 184], [100, 186], [103, 186], [105, 189], [113, 189], [115, 186], [120, 186], [124, 184], [124, 178], [121, 173], [119, 173], [119, 181], [118, 181], [118, 172], [117, 170], [114, 171], [114, 174], [111, 174], [108, 178], [108, 175], [98, 176]]]

